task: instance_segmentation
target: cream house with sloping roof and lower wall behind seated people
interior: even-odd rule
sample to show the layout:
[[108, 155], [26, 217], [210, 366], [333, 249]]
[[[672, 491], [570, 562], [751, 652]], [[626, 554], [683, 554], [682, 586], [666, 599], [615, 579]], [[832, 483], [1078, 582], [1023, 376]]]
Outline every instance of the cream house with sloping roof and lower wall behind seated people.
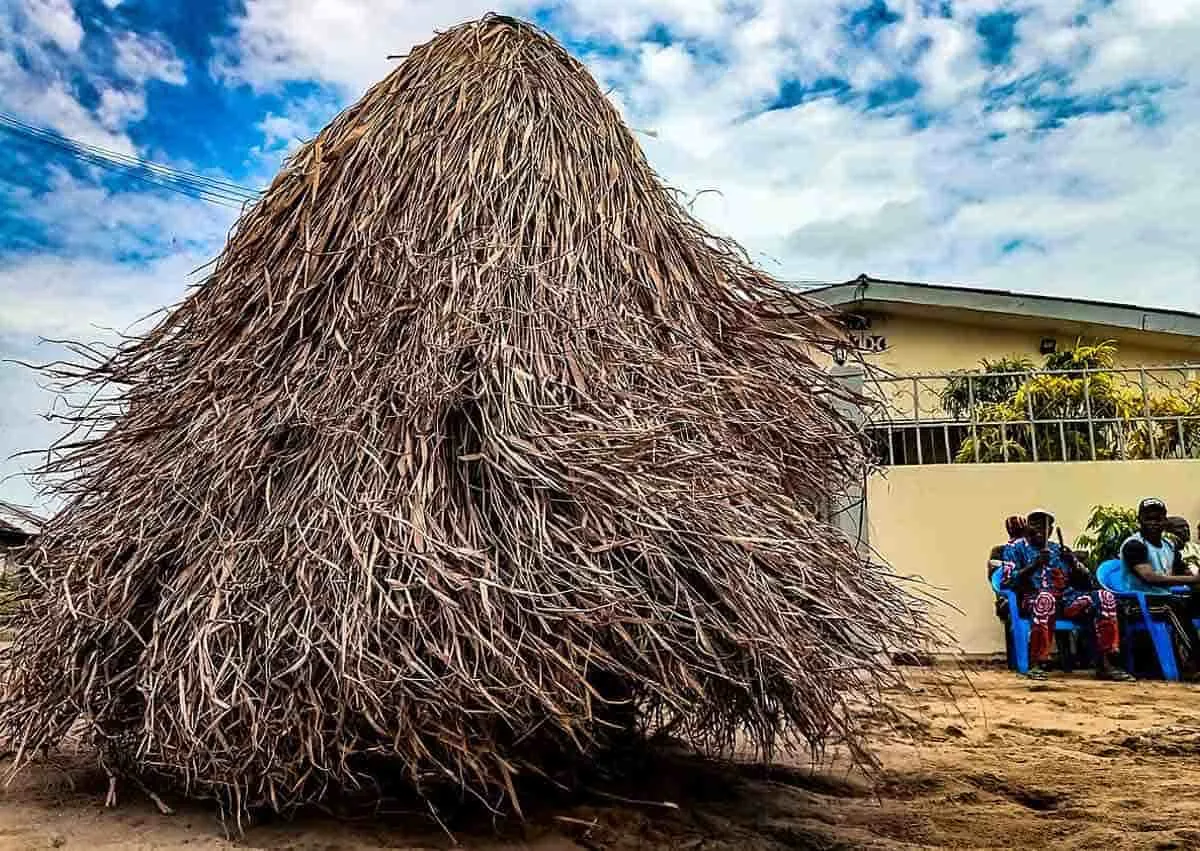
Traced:
[[1044, 505], [1072, 540], [1094, 505], [1158, 496], [1172, 513], [1200, 521], [1200, 465], [1182, 451], [1147, 461], [1093, 454], [1067, 462], [955, 463], [970, 426], [952, 420], [938, 401], [947, 373], [977, 370], [983, 359], [1027, 358], [1040, 366], [1048, 352], [1079, 340], [1116, 342], [1117, 366], [1126, 370], [1120, 378], [1130, 386], [1190, 380], [1200, 376], [1192, 368], [1200, 362], [1200, 314], [866, 276], [806, 294], [853, 320], [864, 361], [883, 376], [871, 386], [886, 388], [893, 410], [892, 422], [876, 426], [889, 431], [892, 457], [868, 483], [854, 525], [899, 573], [932, 587], [959, 649], [1003, 649], [984, 565], [1003, 538], [1006, 516]]

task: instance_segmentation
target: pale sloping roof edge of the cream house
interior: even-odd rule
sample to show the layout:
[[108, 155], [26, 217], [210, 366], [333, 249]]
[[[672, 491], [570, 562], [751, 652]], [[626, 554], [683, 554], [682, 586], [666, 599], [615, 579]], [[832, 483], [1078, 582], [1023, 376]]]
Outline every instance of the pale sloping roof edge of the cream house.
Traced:
[[1200, 337], [1200, 313], [1188, 311], [1004, 289], [889, 281], [869, 275], [859, 275], [845, 283], [808, 289], [804, 295], [830, 307], [866, 302], [908, 304]]

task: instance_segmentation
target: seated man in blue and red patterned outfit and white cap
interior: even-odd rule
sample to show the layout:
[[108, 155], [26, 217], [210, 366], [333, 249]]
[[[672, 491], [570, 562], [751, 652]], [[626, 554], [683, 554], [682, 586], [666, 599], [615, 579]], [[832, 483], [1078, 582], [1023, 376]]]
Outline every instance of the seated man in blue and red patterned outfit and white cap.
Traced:
[[1021, 610], [1033, 619], [1030, 634], [1030, 671], [1026, 676], [1045, 679], [1043, 665], [1050, 658], [1054, 623], [1066, 617], [1088, 624], [1096, 635], [1096, 676], [1102, 679], [1133, 679], [1117, 664], [1121, 631], [1117, 600], [1109, 591], [1097, 591], [1092, 575], [1069, 547], [1050, 540], [1054, 515], [1031, 511], [1025, 538], [1006, 547], [1004, 561], [1013, 573], [1004, 587], [1018, 592]]

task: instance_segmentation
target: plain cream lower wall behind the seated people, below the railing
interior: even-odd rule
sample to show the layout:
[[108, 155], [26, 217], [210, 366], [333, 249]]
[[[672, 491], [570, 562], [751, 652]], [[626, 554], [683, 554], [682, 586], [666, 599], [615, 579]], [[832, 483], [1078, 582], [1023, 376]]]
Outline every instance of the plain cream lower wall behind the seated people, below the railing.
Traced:
[[1046, 508], [1072, 543], [1094, 505], [1157, 496], [1195, 523], [1198, 473], [1200, 461], [894, 467], [868, 484], [869, 540], [899, 573], [935, 587], [959, 649], [1002, 653], [985, 568], [1003, 541], [1004, 517]]

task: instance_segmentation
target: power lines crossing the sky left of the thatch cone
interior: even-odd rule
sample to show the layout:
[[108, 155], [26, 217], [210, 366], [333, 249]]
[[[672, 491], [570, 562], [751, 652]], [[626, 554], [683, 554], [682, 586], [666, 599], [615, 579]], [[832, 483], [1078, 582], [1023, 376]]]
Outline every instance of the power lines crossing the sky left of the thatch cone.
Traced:
[[162, 166], [128, 154], [108, 150], [98, 145], [67, 138], [52, 130], [25, 124], [13, 115], [0, 113], [0, 132], [48, 150], [66, 154], [80, 162], [121, 173], [128, 178], [158, 188], [185, 194], [222, 206], [241, 208], [259, 198], [257, 190], [229, 180], [210, 178], [196, 172]]

